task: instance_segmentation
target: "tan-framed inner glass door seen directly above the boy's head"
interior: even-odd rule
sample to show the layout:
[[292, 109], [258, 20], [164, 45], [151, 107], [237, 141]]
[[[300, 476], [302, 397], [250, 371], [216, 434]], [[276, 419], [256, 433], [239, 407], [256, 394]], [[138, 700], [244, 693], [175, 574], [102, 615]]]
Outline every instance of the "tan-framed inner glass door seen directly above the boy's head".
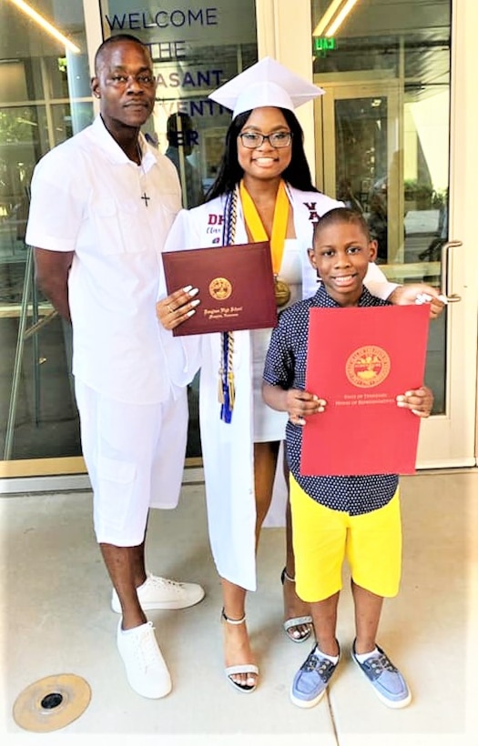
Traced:
[[[398, 85], [323, 84], [320, 150], [326, 194], [359, 210], [378, 242], [380, 264], [402, 257]], [[333, 158], [329, 157], [333, 153]]]

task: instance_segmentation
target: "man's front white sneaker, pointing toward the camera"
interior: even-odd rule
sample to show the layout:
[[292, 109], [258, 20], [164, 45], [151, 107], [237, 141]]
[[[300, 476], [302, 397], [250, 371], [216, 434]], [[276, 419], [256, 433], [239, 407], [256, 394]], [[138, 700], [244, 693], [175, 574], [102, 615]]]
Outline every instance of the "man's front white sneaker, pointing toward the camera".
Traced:
[[131, 689], [142, 697], [158, 700], [171, 691], [171, 677], [154, 632], [153, 622], [147, 621], [132, 630], [117, 626], [117, 649], [127, 670]]

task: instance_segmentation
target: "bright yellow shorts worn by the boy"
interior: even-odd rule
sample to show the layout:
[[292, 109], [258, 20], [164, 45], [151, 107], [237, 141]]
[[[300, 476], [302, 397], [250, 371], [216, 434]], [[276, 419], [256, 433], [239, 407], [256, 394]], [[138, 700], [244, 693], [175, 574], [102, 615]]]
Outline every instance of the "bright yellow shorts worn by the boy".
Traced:
[[384, 508], [350, 516], [320, 505], [290, 474], [296, 590], [304, 601], [328, 599], [342, 587], [347, 558], [352, 580], [384, 598], [396, 596], [402, 573], [400, 489]]

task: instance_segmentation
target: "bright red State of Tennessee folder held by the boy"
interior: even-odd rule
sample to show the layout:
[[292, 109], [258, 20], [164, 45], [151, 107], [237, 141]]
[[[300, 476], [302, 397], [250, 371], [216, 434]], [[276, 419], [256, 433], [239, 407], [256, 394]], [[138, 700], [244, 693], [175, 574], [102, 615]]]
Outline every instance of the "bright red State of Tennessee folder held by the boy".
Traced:
[[413, 474], [421, 418], [395, 398], [423, 383], [429, 308], [311, 308], [301, 474]]

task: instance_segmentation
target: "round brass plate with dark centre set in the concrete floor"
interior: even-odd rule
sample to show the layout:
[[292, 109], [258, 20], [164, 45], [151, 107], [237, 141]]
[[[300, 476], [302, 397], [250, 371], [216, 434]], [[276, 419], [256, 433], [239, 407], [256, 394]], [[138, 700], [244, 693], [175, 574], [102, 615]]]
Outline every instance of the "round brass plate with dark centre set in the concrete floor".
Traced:
[[76, 721], [90, 700], [89, 684], [80, 676], [73, 673], [47, 676], [18, 695], [14, 720], [25, 731], [57, 731]]

